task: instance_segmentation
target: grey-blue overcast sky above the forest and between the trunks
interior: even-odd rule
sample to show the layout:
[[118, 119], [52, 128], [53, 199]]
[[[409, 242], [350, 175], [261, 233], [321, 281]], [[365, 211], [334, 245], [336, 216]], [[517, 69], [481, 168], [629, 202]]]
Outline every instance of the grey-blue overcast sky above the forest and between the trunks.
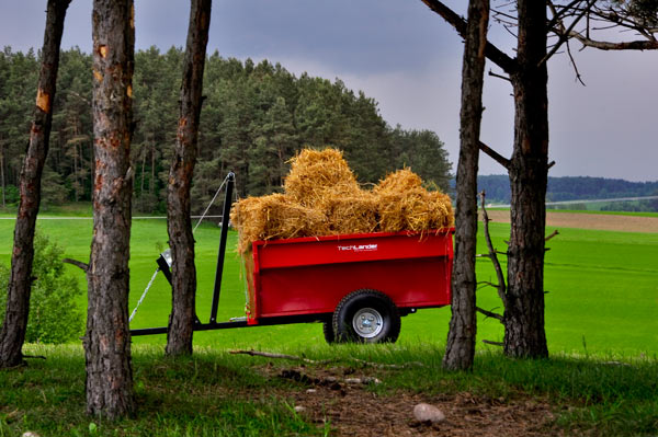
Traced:
[[[90, 51], [91, 3], [71, 2], [63, 48]], [[466, 2], [449, 3], [458, 10]], [[0, 45], [39, 48], [46, 1], [0, 4]], [[184, 46], [189, 4], [136, 0], [137, 48]], [[497, 24], [491, 38], [502, 48], [513, 44]], [[224, 57], [266, 58], [296, 76], [342, 79], [375, 99], [389, 125], [434, 130], [455, 170], [462, 49], [455, 32], [420, 0], [215, 0], [208, 42], [208, 51]], [[586, 49], [576, 59], [587, 87], [576, 82], [566, 56], [549, 62], [551, 175], [658, 180], [658, 51]], [[508, 157], [510, 93], [508, 82], [486, 78], [483, 140]], [[483, 156], [479, 173], [503, 171]]]

